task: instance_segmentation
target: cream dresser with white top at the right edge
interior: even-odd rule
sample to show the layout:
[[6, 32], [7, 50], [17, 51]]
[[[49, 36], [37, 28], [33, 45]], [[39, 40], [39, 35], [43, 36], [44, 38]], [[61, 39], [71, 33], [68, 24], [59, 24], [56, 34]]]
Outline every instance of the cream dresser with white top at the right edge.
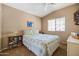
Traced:
[[67, 40], [67, 56], [79, 56], [79, 39], [69, 36]]

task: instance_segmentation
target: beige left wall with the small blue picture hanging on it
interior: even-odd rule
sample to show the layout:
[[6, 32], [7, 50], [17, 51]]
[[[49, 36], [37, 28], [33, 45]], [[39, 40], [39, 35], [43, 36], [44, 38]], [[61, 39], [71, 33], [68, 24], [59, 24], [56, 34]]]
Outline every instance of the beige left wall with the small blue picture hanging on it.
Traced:
[[[29, 29], [25, 26], [25, 23], [30, 20], [33, 22], [33, 27], [37, 30], [41, 30], [41, 18], [37, 16], [33, 16], [26, 12], [20, 11], [18, 9], [2, 5], [3, 10], [3, 21], [2, 21], [2, 33], [15, 32], [20, 30]], [[3, 48], [7, 47], [7, 39], [4, 37], [3, 41]]]

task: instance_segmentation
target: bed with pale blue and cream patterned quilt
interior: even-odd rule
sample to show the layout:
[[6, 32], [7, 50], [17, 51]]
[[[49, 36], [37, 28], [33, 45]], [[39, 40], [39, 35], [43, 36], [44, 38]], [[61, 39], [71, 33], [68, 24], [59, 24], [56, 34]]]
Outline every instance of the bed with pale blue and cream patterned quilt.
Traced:
[[60, 40], [57, 35], [33, 33], [31, 30], [25, 31], [24, 33], [24, 46], [37, 56], [51, 56], [59, 47]]

